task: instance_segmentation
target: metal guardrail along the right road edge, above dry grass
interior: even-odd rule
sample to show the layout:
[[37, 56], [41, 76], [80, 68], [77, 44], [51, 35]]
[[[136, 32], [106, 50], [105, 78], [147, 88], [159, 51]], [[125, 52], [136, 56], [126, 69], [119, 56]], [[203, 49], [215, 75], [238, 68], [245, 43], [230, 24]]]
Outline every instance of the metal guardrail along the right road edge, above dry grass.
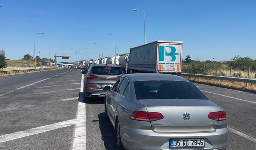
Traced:
[[187, 74], [187, 73], [181, 73], [181, 75], [198, 77], [199, 80], [200, 80], [200, 78], [218, 79], [219, 83], [221, 82], [221, 80], [245, 82], [246, 86], [248, 86], [248, 83], [256, 83], [255, 79], [249, 79], [249, 78], [235, 78], [235, 77], [228, 77], [228, 76], [211, 76], [211, 75], [204, 75], [204, 74]]

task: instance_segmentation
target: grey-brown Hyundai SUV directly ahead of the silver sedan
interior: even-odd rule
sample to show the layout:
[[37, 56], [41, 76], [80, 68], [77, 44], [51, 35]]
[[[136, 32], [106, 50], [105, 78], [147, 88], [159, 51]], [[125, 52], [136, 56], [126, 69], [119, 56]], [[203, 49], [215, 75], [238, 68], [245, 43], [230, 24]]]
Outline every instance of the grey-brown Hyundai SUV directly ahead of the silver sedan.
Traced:
[[106, 91], [103, 88], [114, 86], [122, 75], [122, 68], [116, 64], [91, 64], [84, 78], [84, 100], [88, 97], [105, 97]]

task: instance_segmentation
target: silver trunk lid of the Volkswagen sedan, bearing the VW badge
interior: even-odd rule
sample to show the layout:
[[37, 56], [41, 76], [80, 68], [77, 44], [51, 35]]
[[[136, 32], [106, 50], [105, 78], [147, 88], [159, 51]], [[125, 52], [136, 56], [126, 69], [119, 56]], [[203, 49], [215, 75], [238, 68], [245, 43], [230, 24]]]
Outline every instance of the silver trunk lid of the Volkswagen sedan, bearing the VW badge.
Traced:
[[[164, 118], [151, 122], [155, 132], [207, 132], [218, 127], [218, 121], [208, 118], [220, 108], [210, 100], [138, 100], [148, 112], [160, 112]], [[187, 114], [190, 115], [190, 118]], [[186, 118], [188, 117], [188, 118]], [[186, 119], [186, 120], [185, 120]]]

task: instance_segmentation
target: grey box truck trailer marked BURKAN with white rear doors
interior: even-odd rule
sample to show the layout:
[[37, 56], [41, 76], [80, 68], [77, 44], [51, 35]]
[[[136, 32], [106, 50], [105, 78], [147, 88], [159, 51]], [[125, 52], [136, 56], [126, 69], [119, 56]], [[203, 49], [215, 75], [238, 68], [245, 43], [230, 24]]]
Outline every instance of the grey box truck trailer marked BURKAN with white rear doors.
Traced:
[[157, 40], [130, 48], [128, 73], [180, 74], [182, 42]]

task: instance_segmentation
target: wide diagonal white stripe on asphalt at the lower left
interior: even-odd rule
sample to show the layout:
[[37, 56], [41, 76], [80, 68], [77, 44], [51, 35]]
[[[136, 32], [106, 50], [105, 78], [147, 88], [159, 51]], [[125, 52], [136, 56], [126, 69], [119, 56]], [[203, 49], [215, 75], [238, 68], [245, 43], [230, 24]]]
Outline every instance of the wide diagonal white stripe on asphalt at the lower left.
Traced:
[[64, 128], [67, 126], [72, 126], [76, 123], [76, 119], [72, 119], [72, 120], [67, 120], [67, 121], [63, 121], [63, 122], [58, 122], [55, 124], [49, 124], [46, 126], [40, 126], [37, 128], [32, 128], [32, 129], [28, 129], [28, 130], [24, 130], [24, 131], [19, 131], [19, 132], [14, 132], [14, 133], [10, 133], [10, 134], [5, 134], [0, 136], [0, 143], [2, 142], [7, 142], [10, 140], [15, 140], [17, 138], [23, 138], [26, 136], [31, 136], [34, 134], [40, 134], [43, 132], [47, 132], [47, 131], [51, 131], [51, 130], [55, 130], [55, 129], [59, 129], [59, 128]]

